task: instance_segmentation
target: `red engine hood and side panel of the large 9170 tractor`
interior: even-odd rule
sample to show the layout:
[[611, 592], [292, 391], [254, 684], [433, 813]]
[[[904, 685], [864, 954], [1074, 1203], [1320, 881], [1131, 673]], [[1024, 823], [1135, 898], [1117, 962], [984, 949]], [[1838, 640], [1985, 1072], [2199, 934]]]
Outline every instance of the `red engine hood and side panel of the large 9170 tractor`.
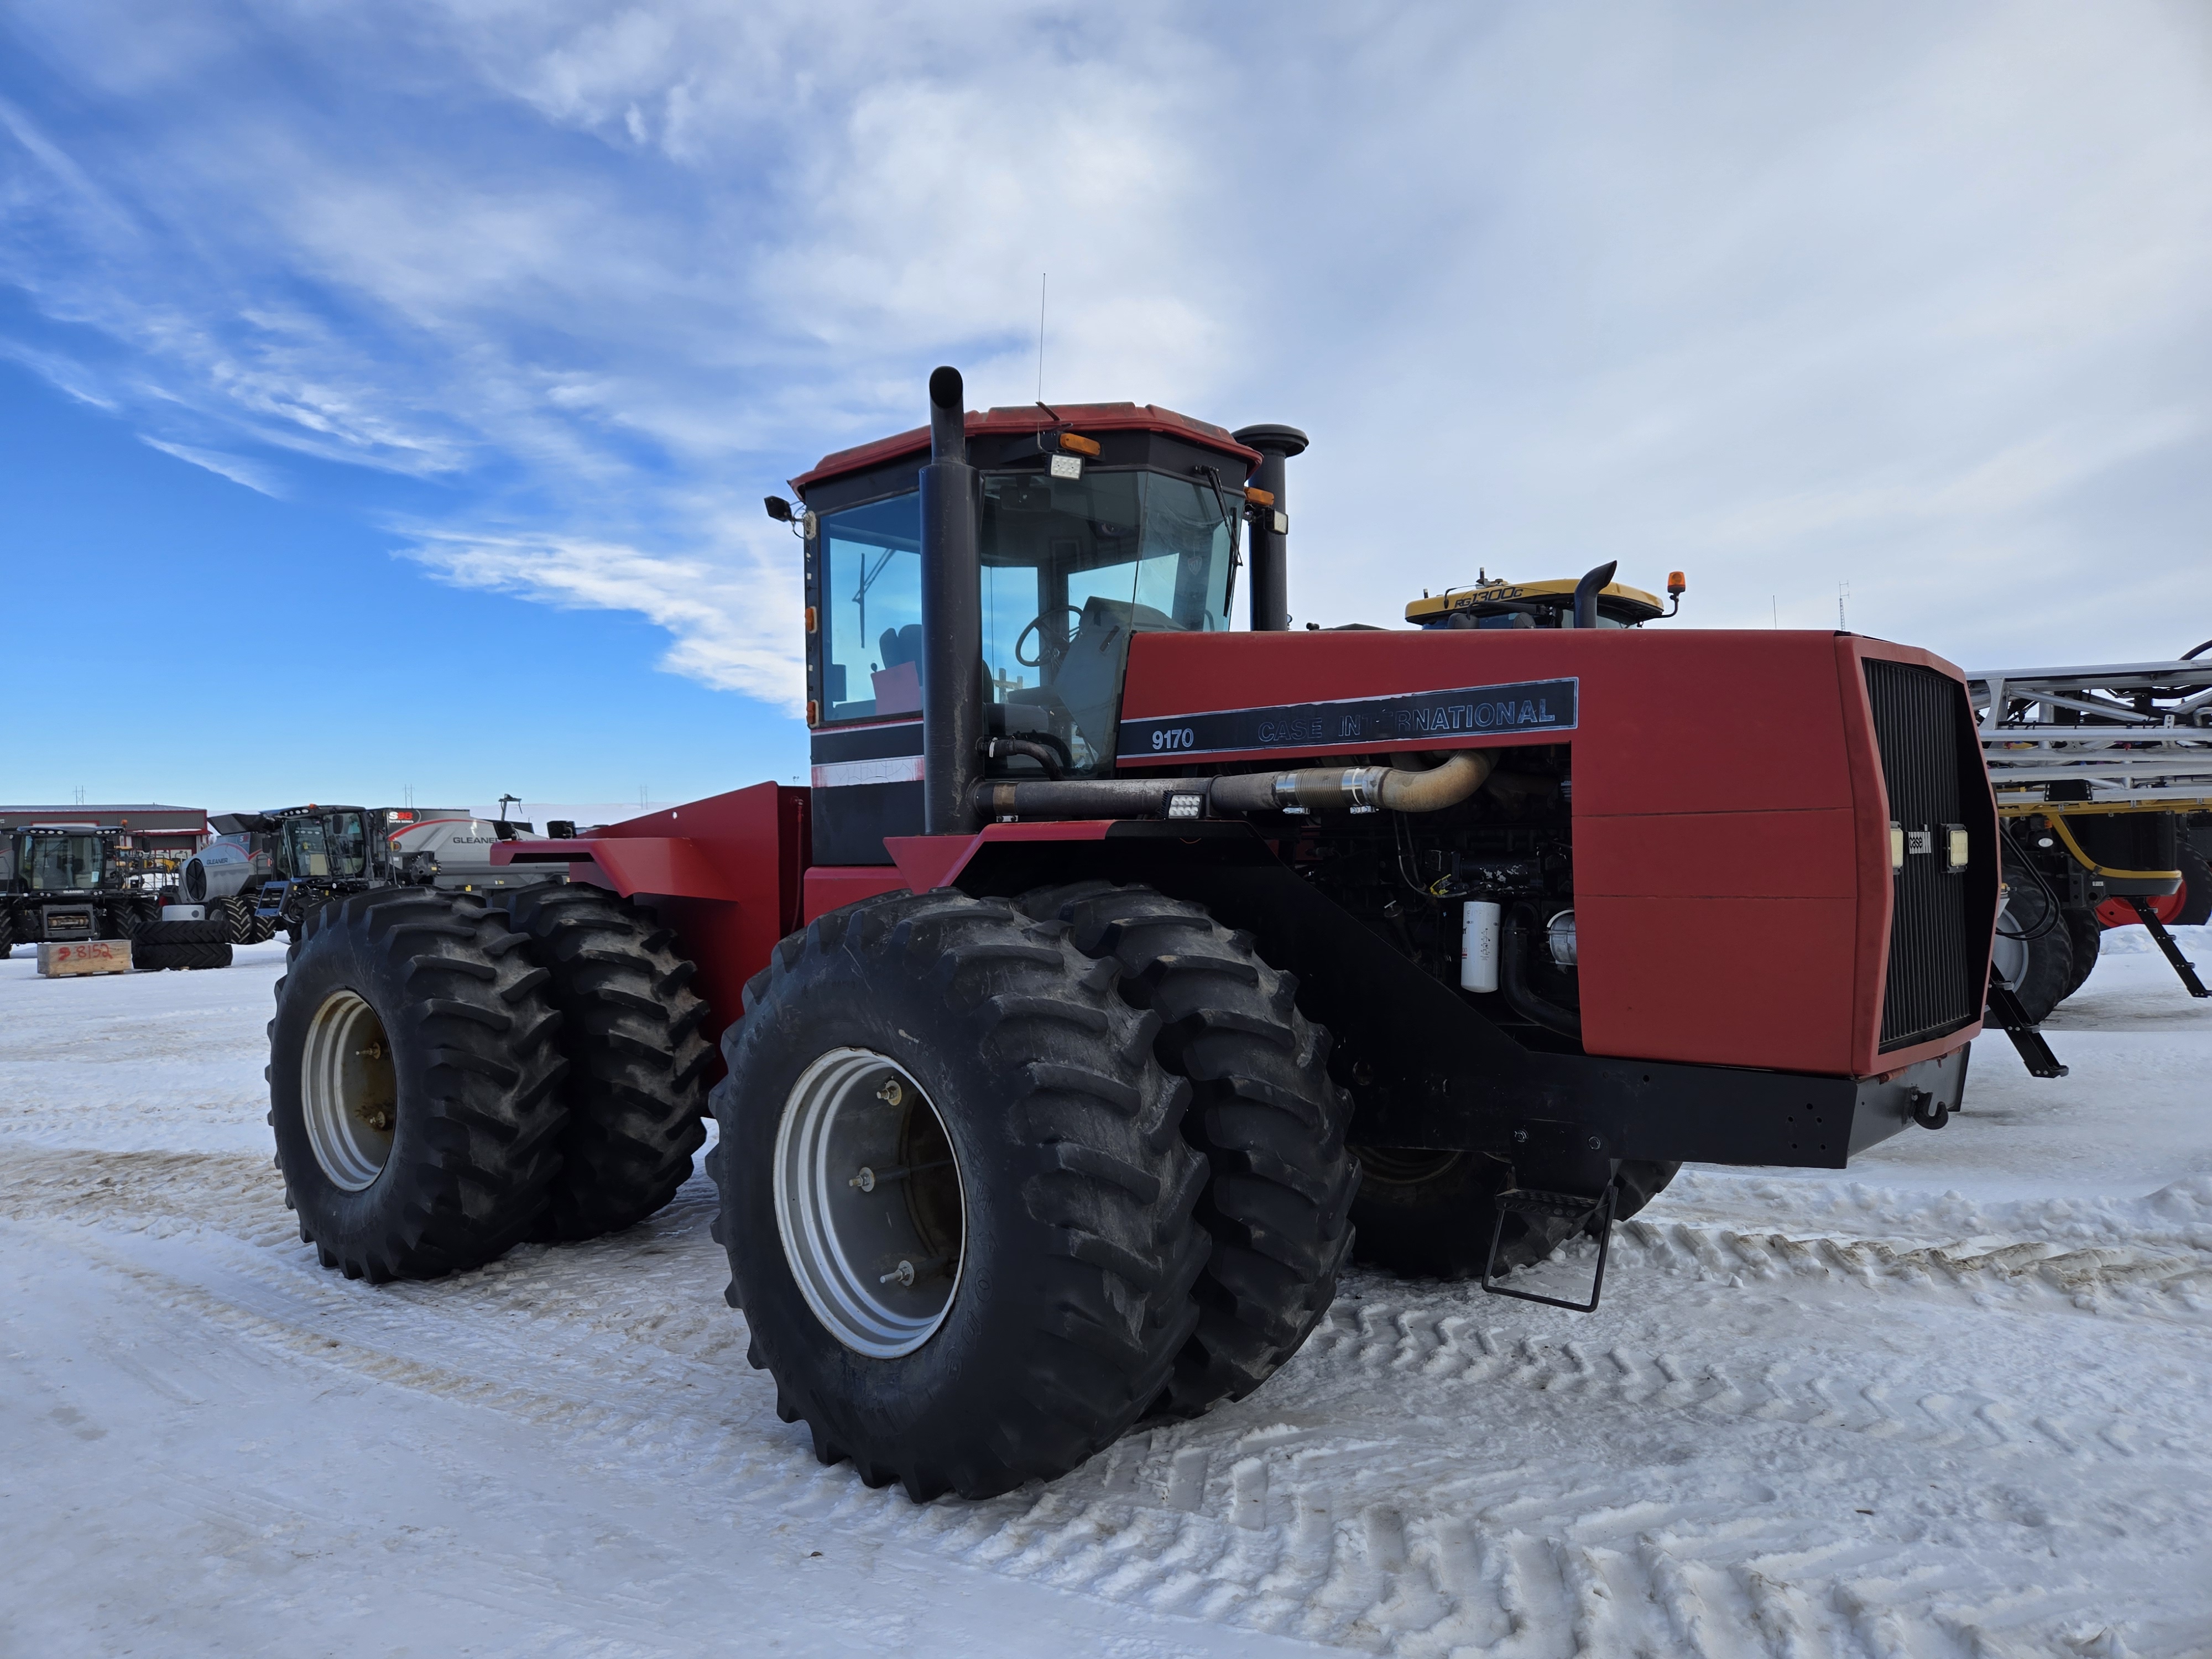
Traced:
[[[1192, 748], [1237, 730], [1245, 748], [1197, 759], [1285, 765], [1564, 741], [1584, 1048], [1869, 1075], [1958, 1048], [1978, 1026], [1878, 1051], [1891, 872], [1865, 657], [1960, 679], [1927, 653], [1834, 633], [1159, 633], [1130, 644], [1124, 730], [1188, 728]], [[1575, 686], [1571, 730], [1480, 721], [1482, 688], [1553, 681]], [[1340, 741], [1314, 717], [1438, 688], [1467, 690], [1475, 717], [1400, 737], [1363, 723]], [[1223, 710], [1239, 721], [1208, 719]], [[1121, 757], [1177, 763], [1192, 761], [1172, 748]], [[1966, 816], [1993, 852], [1993, 807]], [[1978, 949], [1986, 973], [1986, 940]]]

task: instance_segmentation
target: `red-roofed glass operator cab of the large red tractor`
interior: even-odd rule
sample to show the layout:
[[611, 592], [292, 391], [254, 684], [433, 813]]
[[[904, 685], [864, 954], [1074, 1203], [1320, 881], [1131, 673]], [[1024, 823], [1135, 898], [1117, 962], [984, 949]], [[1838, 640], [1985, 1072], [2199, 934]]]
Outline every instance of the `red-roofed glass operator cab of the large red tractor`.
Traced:
[[[967, 416], [984, 730], [998, 770], [1113, 770], [1128, 644], [1230, 626], [1261, 453], [1150, 405]], [[920, 827], [922, 495], [929, 431], [827, 456], [768, 511], [805, 542], [816, 858], [880, 863]]]

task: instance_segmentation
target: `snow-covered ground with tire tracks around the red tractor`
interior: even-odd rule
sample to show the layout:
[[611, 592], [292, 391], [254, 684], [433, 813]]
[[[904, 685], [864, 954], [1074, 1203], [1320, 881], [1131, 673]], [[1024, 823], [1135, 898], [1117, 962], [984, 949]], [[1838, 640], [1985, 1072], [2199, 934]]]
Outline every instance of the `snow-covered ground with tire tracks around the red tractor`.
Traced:
[[703, 1179], [316, 1267], [281, 949], [0, 962], [0, 1652], [2212, 1652], [2212, 1004], [2139, 929], [2070, 1077], [1993, 1037], [1845, 1175], [1683, 1170], [1597, 1314], [1358, 1274], [1250, 1400], [922, 1509], [776, 1422]]

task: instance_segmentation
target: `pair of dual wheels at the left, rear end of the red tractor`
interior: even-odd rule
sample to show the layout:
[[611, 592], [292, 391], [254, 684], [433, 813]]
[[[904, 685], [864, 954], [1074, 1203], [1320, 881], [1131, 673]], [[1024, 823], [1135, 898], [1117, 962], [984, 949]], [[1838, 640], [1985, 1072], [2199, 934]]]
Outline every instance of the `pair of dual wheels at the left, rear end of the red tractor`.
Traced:
[[706, 1135], [712, 1057], [668, 945], [586, 887], [513, 914], [420, 887], [310, 911], [268, 1082], [285, 1203], [323, 1265], [436, 1279], [659, 1210]]

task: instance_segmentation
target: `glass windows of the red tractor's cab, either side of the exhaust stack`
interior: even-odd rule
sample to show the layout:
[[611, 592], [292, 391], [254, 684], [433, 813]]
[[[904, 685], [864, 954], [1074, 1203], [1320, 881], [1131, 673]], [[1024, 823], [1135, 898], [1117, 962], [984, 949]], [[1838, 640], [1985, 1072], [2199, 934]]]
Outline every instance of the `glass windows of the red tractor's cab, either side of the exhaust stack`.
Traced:
[[[1128, 635], [1228, 628], [1237, 502], [1152, 471], [982, 480], [982, 657], [1006, 728], [1104, 763]], [[920, 495], [823, 518], [823, 719], [922, 708]]]

